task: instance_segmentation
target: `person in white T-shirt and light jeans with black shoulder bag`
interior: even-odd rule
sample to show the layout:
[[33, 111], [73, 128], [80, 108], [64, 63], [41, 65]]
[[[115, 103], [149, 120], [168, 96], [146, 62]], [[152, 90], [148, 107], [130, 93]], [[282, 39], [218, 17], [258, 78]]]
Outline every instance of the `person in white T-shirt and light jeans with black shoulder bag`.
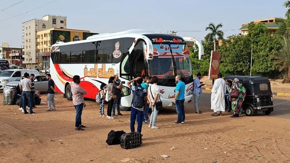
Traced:
[[149, 86], [148, 88], [148, 102], [151, 106], [151, 116], [150, 116], [150, 124], [148, 127], [151, 127], [152, 129], [159, 129], [160, 127], [156, 126], [156, 119], [157, 119], [157, 115], [158, 115], [158, 111], [156, 110], [156, 102], [160, 101], [159, 98], [159, 91], [160, 88], [157, 86], [157, 82], [158, 82], [158, 78], [157, 76], [153, 76], [152, 77], [152, 82], [153, 84], [151, 86]]

